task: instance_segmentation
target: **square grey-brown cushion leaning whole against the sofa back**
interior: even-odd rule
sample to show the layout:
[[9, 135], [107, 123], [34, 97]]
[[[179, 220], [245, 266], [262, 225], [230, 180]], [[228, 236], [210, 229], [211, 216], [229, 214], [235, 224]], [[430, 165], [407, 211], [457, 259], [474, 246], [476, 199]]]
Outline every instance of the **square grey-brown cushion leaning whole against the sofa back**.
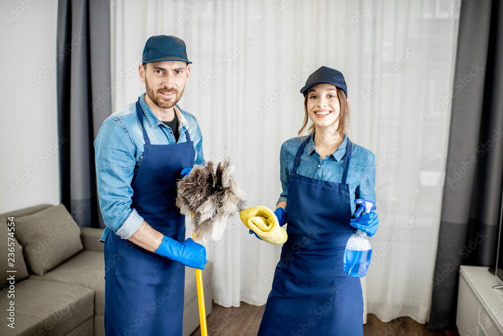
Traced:
[[15, 221], [25, 261], [39, 276], [82, 250], [80, 229], [62, 204]]

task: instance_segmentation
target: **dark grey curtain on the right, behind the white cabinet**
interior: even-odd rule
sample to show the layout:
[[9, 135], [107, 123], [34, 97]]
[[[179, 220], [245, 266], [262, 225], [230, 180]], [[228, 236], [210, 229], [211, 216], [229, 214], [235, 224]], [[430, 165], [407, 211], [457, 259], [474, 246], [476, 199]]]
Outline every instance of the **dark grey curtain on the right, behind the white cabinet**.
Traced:
[[503, 174], [503, 6], [462, 2], [430, 329], [455, 328], [459, 265], [494, 263]]

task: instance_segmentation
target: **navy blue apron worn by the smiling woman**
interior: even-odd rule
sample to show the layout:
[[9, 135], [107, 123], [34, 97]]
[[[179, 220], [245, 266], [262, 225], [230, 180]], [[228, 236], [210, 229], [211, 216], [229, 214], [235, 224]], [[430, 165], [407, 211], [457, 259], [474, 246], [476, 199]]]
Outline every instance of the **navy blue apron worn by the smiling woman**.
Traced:
[[288, 240], [276, 266], [259, 335], [363, 335], [359, 278], [344, 273], [350, 226], [346, 184], [353, 145], [348, 141], [341, 183], [296, 173], [308, 137], [288, 177]]

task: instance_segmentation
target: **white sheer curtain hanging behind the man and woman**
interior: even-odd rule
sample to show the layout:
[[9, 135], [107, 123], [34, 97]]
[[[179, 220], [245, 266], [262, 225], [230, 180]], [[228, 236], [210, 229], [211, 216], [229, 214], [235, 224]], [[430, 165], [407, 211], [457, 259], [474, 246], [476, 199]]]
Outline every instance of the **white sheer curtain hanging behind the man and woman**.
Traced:
[[[440, 218], [459, 2], [447, 0], [189, 0], [112, 4], [117, 110], [144, 85], [146, 39], [176, 35], [191, 65], [180, 106], [199, 120], [207, 160], [231, 155], [250, 206], [275, 208], [279, 148], [303, 118], [299, 93], [321, 65], [343, 72], [352, 139], [377, 156], [381, 220], [363, 285], [368, 311], [428, 318]], [[435, 108], [432, 110], [432, 106]], [[250, 236], [238, 216], [206, 242], [214, 298], [262, 305], [280, 246]], [[189, 234], [190, 228], [188, 229]]]

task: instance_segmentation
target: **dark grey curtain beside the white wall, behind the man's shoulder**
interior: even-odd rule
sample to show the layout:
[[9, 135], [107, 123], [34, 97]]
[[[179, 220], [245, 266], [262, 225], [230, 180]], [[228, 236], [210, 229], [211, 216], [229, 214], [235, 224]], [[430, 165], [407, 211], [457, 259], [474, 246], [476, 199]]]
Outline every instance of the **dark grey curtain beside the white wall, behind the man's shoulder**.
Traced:
[[104, 227], [93, 141], [111, 114], [110, 2], [59, 0], [57, 106], [61, 203], [80, 226]]

